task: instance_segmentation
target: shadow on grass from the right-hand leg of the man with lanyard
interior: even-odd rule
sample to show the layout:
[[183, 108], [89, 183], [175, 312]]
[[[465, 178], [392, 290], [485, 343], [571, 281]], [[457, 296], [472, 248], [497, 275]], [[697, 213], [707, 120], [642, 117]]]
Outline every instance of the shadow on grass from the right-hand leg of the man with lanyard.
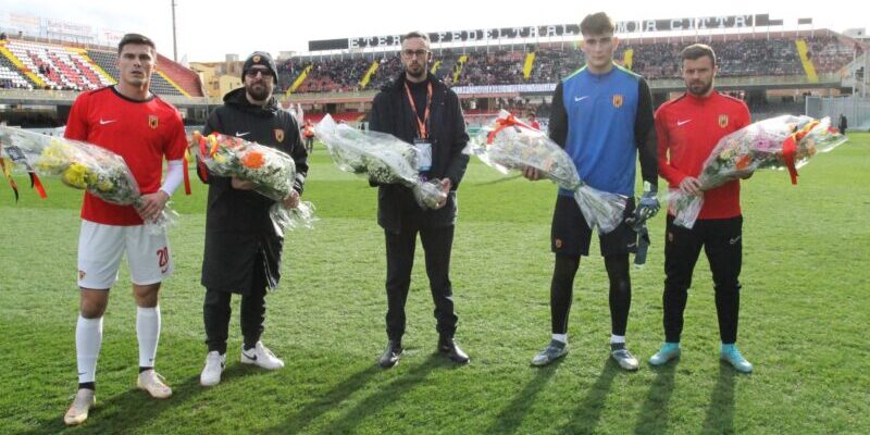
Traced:
[[[410, 369], [389, 384], [378, 387], [377, 391], [369, 397], [360, 400], [353, 408], [343, 412], [336, 417], [328, 425], [326, 425], [320, 433], [322, 434], [350, 434], [366, 417], [377, 414], [382, 409], [389, 406], [389, 403], [401, 400], [401, 397], [414, 388], [418, 384], [425, 381], [430, 372], [436, 368], [456, 368], [450, 361], [447, 361], [440, 355], [432, 353], [425, 361], [419, 365]], [[289, 433], [284, 427], [279, 427], [278, 432]]]

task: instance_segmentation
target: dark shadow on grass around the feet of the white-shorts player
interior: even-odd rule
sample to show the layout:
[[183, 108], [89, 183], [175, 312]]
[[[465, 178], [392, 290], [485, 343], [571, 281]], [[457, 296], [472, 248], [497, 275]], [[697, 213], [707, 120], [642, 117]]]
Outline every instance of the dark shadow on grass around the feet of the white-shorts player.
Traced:
[[[237, 365], [227, 369], [224, 375], [227, 377], [237, 376], [238, 372], [247, 372]], [[88, 420], [75, 427], [66, 427], [63, 424], [64, 409], [57, 410], [57, 417], [44, 420], [38, 423], [38, 427], [25, 432], [27, 435], [35, 434], [57, 434], [67, 431], [67, 433], [87, 434], [108, 434], [119, 432], [132, 432], [137, 427], [154, 420], [161, 412], [178, 407], [206, 390], [199, 385], [199, 374], [186, 378], [181, 384], [170, 384], [172, 397], [158, 400], [151, 398], [148, 393], [133, 387], [124, 393], [110, 397], [108, 400], [100, 400], [100, 391], [97, 390], [97, 407], [92, 408], [88, 414]], [[67, 402], [65, 406], [70, 406]]]

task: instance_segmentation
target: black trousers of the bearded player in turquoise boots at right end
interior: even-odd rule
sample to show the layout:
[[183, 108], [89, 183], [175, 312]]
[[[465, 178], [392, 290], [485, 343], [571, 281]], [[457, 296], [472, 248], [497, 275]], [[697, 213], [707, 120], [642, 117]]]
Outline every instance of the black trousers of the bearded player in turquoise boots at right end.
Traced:
[[719, 336], [723, 344], [737, 340], [743, 264], [743, 216], [698, 220], [692, 229], [674, 225], [668, 216], [664, 239], [664, 339], [679, 343], [683, 332], [683, 311], [692, 287], [692, 274], [700, 256], [707, 254], [713, 275]]

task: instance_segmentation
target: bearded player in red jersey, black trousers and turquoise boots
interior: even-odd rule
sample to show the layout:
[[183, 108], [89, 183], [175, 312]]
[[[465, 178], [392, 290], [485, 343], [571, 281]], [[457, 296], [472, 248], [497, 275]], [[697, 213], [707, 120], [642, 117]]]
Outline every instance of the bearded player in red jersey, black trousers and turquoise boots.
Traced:
[[[738, 99], [713, 89], [716, 53], [695, 44], [682, 52], [686, 92], [656, 112], [659, 173], [670, 188], [696, 194], [701, 166], [723, 136], [750, 123], [749, 109]], [[649, 359], [661, 365], [680, 356], [683, 311], [692, 286], [692, 273], [704, 248], [713, 275], [721, 359], [743, 373], [753, 371], [735, 346], [739, 313], [738, 277], [743, 262], [743, 216], [739, 181], [704, 192], [704, 207], [689, 229], [674, 224], [668, 214], [664, 240], [664, 344]]]

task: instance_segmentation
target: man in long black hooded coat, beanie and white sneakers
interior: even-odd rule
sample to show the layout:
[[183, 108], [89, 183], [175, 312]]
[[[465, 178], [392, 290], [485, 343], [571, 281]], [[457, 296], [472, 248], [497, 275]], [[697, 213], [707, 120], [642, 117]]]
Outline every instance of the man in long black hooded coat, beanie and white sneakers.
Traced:
[[[284, 206], [295, 208], [308, 173], [308, 153], [296, 120], [272, 97], [277, 84], [275, 63], [269, 53], [256, 51], [245, 61], [241, 75], [245, 87], [224, 97], [224, 105], [211, 113], [203, 133], [237, 136], [293, 157], [297, 173], [294, 194]], [[266, 288], [275, 288], [281, 278], [284, 239], [275, 233], [269, 215], [275, 201], [254, 192], [249, 181], [206, 175], [200, 174], [209, 184], [201, 283], [206, 287], [202, 314], [209, 353], [200, 383], [211, 386], [221, 382], [226, 361], [233, 293], [241, 295], [241, 362], [266, 370], [284, 366], [260, 341]]]

